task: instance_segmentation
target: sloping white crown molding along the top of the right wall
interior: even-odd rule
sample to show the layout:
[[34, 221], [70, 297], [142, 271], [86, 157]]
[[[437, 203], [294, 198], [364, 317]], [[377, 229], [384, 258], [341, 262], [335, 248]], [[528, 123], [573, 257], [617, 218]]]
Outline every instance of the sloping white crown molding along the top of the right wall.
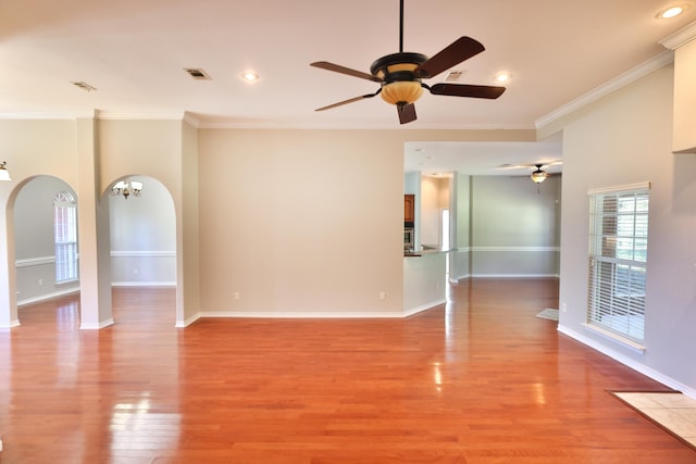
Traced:
[[672, 50], [666, 50], [662, 53], [654, 57], [652, 59], [644, 62], [643, 64], [637, 65], [633, 70], [626, 71], [625, 73], [614, 77], [611, 80], [602, 84], [601, 86], [595, 88], [594, 90], [588, 91], [582, 97], [576, 98], [575, 100], [560, 106], [559, 109], [548, 113], [545, 116], [539, 117], [534, 122], [537, 130], [543, 129], [549, 124], [560, 120], [561, 117], [574, 113], [583, 106], [588, 105], [589, 103], [599, 100], [600, 98], [619, 90], [621, 87], [624, 87], [643, 76], [650, 74], [654, 71], [659, 70], [674, 61], [674, 52]]

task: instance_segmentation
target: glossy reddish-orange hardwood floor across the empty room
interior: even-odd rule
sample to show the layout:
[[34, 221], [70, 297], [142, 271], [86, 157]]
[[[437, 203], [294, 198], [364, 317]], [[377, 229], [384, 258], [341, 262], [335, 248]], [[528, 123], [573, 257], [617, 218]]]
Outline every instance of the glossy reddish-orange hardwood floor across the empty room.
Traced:
[[[336, 298], [340, 298], [339, 294]], [[696, 463], [608, 390], [666, 387], [535, 317], [556, 279], [470, 279], [405, 319], [208, 318], [115, 289], [0, 329], [2, 464]]]

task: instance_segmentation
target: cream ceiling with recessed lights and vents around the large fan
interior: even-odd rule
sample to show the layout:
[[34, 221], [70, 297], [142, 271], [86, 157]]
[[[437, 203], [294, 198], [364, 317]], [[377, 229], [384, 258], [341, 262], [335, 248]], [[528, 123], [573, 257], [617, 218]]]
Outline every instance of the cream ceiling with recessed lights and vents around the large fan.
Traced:
[[[486, 50], [452, 67], [463, 72], [459, 83], [495, 85], [500, 71], [513, 77], [497, 100], [425, 93], [418, 121], [400, 126], [395, 108], [380, 98], [315, 112], [373, 93], [378, 84], [309, 65], [330, 61], [369, 73], [374, 60], [397, 52], [397, 0], [2, 0], [0, 117], [187, 112], [201, 127], [533, 129], [545, 115], [664, 53], [659, 40], [696, 20], [694, 1], [405, 0], [405, 51], [433, 55], [470, 36]], [[672, 20], [656, 17], [674, 3], [689, 8]], [[211, 78], [195, 79], [184, 68]], [[260, 78], [245, 81], [246, 71]], [[425, 81], [444, 81], [446, 74]], [[467, 159], [452, 154], [456, 143], [413, 148], [431, 160], [440, 149], [443, 160]], [[525, 156], [519, 160], [489, 154], [476, 172], [560, 156], [550, 145], [535, 148], [530, 158], [520, 148]]]

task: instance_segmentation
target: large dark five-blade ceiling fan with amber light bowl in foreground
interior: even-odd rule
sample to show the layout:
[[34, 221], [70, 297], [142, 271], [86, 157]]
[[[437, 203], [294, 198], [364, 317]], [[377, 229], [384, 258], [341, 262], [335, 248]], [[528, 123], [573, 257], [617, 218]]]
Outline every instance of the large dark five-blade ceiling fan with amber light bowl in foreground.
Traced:
[[424, 84], [422, 79], [435, 77], [443, 71], [481, 53], [485, 48], [477, 40], [463, 36], [431, 58], [421, 53], [403, 52], [403, 0], [400, 0], [399, 10], [399, 52], [377, 59], [370, 66], [370, 74], [327, 61], [310, 63], [310, 66], [380, 83], [377, 91], [339, 101], [315, 111], [324, 111], [381, 95], [384, 101], [396, 105], [399, 122], [406, 124], [415, 121], [415, 105], [413, 103], [421, 97], [423, 89], [433, 95], [449, 97], [496, 99], [502, 95], [505, 87], [444, 83], [428, 86]]

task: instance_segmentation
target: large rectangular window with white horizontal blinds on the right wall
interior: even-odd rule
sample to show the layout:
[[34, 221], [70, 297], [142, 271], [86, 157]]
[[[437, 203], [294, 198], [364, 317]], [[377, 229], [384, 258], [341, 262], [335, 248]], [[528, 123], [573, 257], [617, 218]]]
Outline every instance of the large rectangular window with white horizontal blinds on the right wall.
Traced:
[[587, 324], [642, 343], [649, 184], [589, 192]]

